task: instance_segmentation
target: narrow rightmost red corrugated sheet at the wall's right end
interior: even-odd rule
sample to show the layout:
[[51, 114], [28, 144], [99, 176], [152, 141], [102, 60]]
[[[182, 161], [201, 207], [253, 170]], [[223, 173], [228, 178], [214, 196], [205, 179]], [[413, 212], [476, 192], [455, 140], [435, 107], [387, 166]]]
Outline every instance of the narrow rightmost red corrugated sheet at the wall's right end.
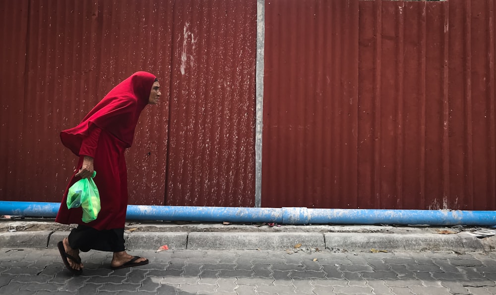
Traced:
[[493, 0], [449, 6], [448, 207], [496, 208], [494, 7]]

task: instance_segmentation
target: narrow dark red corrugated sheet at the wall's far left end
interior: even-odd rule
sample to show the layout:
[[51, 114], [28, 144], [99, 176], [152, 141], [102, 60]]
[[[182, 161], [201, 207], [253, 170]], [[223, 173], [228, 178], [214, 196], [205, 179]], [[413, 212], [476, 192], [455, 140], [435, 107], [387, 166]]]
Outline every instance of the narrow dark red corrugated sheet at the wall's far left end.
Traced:
[[[21, 148], [26, 67], [28, 0], [1, 1], [0, 6], [0, 199], [16, 199], [12, 184], [24, 174]], [[8, 24], [8, 25], [7, 25]], [[14, 29], [15, 28], [15, 29]]]

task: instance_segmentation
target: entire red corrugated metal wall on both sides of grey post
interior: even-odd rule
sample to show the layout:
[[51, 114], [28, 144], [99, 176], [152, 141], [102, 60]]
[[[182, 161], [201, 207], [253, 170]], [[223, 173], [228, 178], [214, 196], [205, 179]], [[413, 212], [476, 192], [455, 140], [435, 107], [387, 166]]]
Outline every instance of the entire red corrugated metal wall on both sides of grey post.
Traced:
[[[265, 1], [262, 206], [495, 210], [494, 6]], [[0, 11], [0, 199], [59, 201], [60, 130], [147, 70], [131, 203], [254, 204], [256, 1]]]

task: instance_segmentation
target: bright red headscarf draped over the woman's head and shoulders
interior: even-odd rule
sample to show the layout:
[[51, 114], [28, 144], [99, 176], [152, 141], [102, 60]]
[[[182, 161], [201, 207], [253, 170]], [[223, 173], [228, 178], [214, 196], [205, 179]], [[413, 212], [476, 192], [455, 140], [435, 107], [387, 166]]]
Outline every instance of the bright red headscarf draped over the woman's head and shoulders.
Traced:
[[112, 89], [74, 128], [61, 132], [62, 144], [79, 155], [83, 138], [98, 126], [129, 148], [139, 114], [148, 104], [156, 77], [147, 72], [136, 72]]

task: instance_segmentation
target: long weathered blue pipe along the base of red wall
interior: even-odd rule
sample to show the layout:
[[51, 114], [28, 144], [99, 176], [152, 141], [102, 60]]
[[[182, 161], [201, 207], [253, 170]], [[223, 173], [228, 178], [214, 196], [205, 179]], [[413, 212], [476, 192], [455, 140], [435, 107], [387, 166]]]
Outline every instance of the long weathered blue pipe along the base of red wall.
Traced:
[[[0, 215], [53, 218], [60, 203], [0, 201]], [[496, 225], [496, 211], [313, 209], [128, 205], [128, 220], [279, 224]]]

